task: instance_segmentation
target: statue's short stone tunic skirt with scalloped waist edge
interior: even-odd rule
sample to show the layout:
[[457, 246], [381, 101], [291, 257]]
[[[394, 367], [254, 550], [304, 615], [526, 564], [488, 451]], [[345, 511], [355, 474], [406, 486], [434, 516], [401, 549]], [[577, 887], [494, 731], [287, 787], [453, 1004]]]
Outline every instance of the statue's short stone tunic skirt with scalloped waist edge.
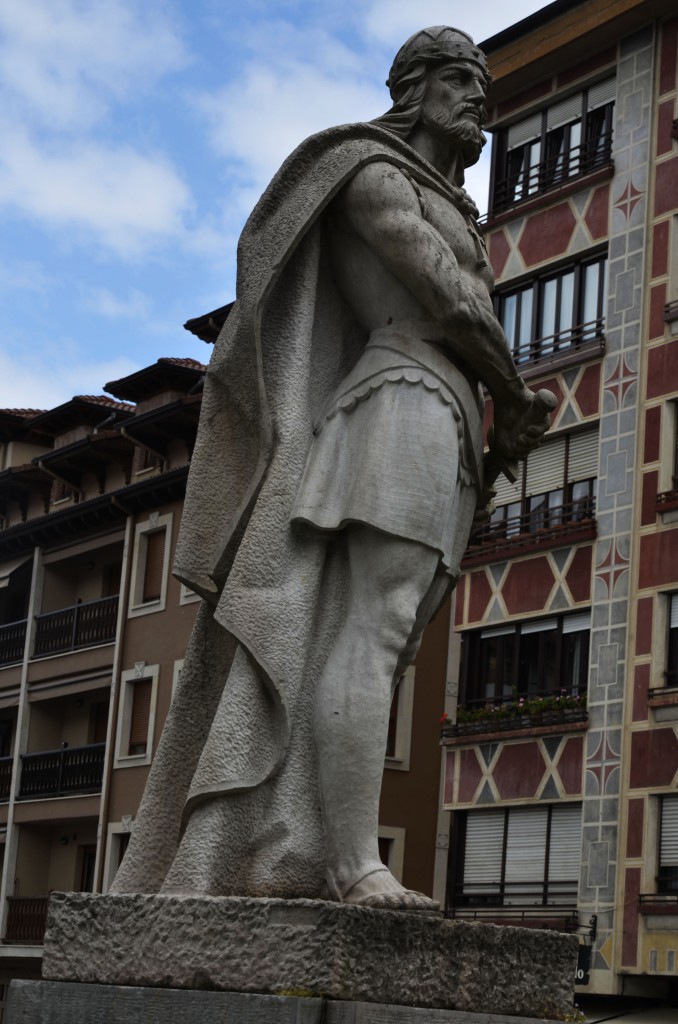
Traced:
[[367, 523], [439, 552], [459, 572], [460, 486], [478, 486], [482, 395], [451, 361], [435, 324], [370, 335], [315, 427], [293, 520], [319, 529]]

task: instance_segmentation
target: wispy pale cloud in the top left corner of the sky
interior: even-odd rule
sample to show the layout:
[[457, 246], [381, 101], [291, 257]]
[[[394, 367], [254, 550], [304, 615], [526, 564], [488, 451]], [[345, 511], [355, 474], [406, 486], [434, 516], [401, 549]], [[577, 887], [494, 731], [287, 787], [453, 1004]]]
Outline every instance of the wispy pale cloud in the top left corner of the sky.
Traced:
[[84, 127], [111, 99], [184, 67], [186, 53], [164, 6], [1, 0], [0, 87], [8, 102], [51, 130]]

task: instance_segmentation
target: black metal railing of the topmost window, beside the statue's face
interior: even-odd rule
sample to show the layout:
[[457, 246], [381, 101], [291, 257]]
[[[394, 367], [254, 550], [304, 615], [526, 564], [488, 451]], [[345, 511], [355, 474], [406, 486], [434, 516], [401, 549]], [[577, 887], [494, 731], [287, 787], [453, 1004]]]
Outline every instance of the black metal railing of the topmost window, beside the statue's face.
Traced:
[[562, 188], [585, 174], [606, 167], [611, 156], [612, 132], [608, 131], [582, 145], [573, 146], [567, 154], [557, 154], [550, 160], [541, 160], [526, 170], [516, 170], [497, 182], [493, 215], [496, 216], [523, 200], [534, 199], [541, 193]]

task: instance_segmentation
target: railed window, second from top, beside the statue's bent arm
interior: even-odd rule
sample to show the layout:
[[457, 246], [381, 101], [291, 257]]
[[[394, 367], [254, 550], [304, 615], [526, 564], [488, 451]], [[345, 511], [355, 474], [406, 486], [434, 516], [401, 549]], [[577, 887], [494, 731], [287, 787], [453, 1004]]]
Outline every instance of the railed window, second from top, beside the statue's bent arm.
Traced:
[[602, 341], [606, 263], [599, 255], [497, 293], [497, 315], [517, 364]]

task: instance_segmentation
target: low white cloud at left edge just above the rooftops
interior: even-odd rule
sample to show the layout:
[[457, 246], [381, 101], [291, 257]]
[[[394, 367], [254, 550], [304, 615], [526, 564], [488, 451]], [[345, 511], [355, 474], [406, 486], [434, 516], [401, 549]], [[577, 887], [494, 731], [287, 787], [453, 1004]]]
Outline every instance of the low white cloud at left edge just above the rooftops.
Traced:
[[43, 353], [39, 359], [32, 351], [0, 352], [0, 409], [53, 409], [75, 394], [101, 394], [105, 381], [138, 369], [138, 362], [126, 356], [86, 362], [73, 352], [66, 357]]

